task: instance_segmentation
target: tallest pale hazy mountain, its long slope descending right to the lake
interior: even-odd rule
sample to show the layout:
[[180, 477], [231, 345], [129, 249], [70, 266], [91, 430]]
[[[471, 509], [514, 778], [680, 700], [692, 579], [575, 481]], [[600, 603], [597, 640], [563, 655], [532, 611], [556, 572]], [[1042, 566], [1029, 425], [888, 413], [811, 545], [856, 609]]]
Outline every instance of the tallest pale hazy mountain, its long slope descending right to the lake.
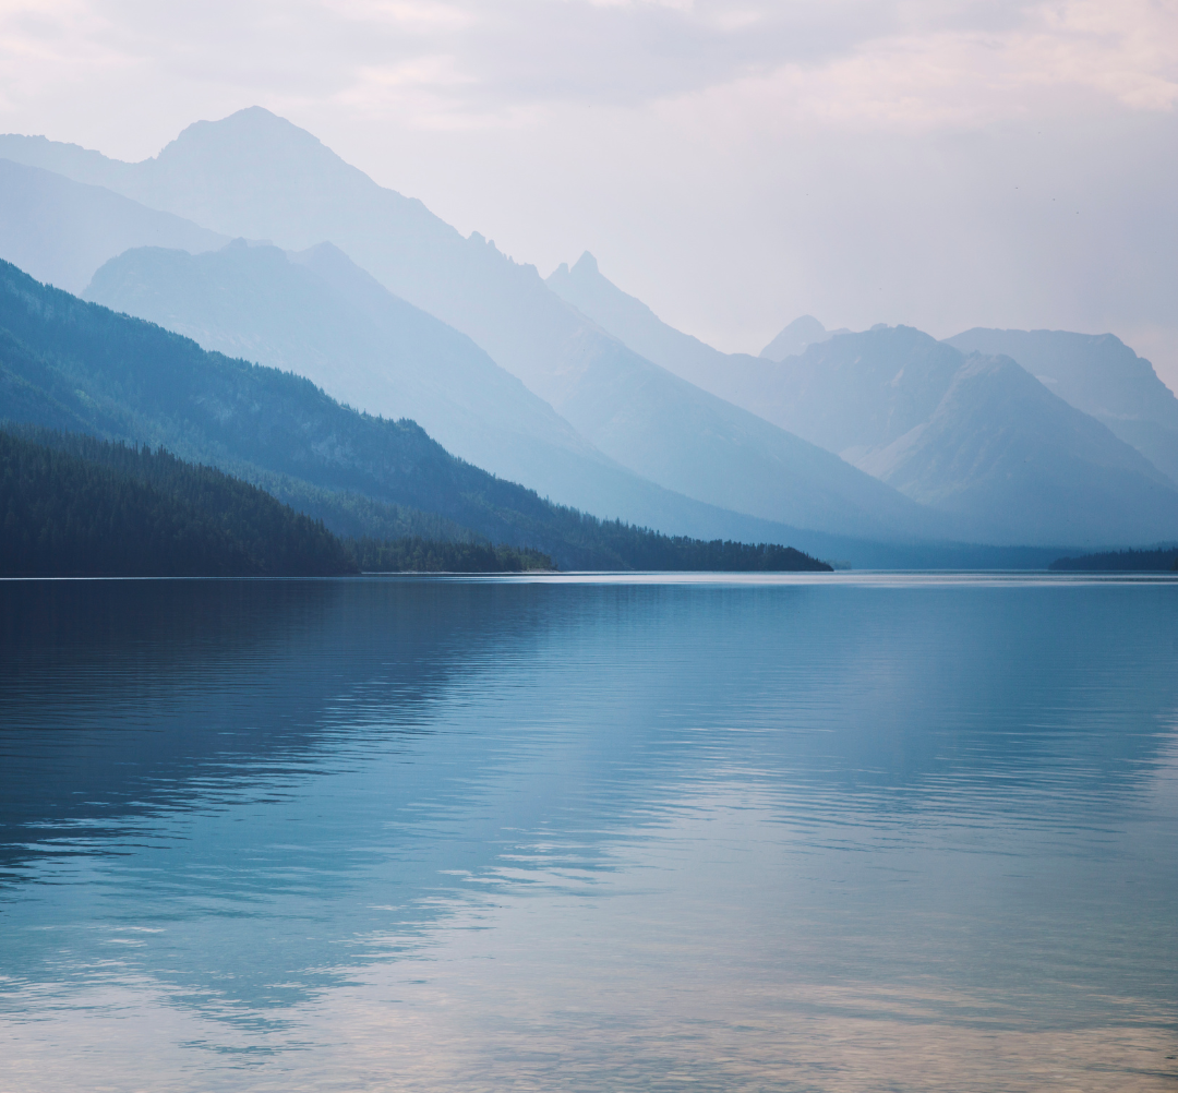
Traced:
[[[472, 338], [597, 449], [688, 497], [818, 531], [912, 541], [955, 524], [629, 350], [475, 233], [385, 190], [253, 107], [119, 164], [37, 138], [0, 155], [100, 181], [216, 231], [303, 250], [330, 240], [386, 289]], [[753, 359], [753, 358], [750, 358]]]

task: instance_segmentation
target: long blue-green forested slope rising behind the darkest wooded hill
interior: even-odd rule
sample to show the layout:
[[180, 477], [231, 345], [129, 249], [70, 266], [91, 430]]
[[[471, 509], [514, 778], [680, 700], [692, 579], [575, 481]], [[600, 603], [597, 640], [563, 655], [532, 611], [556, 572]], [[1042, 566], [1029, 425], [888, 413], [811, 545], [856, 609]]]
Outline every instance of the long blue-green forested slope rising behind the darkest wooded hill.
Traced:
[[[455, 458], [413, 422], [359, 413], [310, 380], [87, 304], [0, 263], [0, 419], [165, 445], [251, 482], [318, 498], [436, 514], [446, 526], [549, 555], [562, 569], [641, 569], [647, 532], [551, 504]], [[276, 489], [283, 496], [283, 489]], [[292, 496], [293, 495], [293, 496]], [[312, 509], [313, 511], [313, 509]], [[388, 537], [389, 531], [376, 531]], [[409, 534], [418, 534], [416, 530]]]

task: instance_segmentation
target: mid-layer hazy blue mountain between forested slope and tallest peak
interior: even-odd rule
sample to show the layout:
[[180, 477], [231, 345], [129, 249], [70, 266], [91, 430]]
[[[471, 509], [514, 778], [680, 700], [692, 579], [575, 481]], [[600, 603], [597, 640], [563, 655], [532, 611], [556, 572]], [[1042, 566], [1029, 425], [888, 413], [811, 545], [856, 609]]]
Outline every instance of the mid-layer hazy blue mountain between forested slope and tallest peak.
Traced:
[[597, 451], [465, 334], [390, 293], [332, 244], [286, 254], [236, 240], [204, 254], [143, 247], [85, 298], [209, 350], [305, 376], [340, 402], [409, 417], [448, 451], [576, 508], [664, 531], [739, 536], [717, 514]]

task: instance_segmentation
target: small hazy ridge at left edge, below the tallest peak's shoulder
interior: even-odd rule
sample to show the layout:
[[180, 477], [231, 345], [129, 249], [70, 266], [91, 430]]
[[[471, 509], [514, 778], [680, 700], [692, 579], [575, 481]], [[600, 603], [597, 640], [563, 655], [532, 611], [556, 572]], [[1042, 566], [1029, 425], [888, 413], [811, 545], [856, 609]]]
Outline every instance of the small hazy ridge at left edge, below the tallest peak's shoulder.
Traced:
[[107, 258], [132, 246], [207, 251], [226, 239], [101, 186], [0, 159], [0, 258], [80, 292]]

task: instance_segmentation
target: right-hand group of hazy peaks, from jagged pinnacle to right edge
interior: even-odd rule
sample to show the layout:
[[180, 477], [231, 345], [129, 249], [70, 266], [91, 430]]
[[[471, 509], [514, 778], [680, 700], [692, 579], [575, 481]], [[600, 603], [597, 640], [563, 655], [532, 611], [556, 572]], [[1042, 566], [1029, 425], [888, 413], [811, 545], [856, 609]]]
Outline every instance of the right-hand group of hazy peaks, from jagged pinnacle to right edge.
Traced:
[[671, 371], [990, 542], [1152, 542], [1178, 528], [1178, 399], [1112, 334], [973, 330], [940, 343], [807, 316], [754, 358], [674, 331], [591, 254], [549, 284]]

